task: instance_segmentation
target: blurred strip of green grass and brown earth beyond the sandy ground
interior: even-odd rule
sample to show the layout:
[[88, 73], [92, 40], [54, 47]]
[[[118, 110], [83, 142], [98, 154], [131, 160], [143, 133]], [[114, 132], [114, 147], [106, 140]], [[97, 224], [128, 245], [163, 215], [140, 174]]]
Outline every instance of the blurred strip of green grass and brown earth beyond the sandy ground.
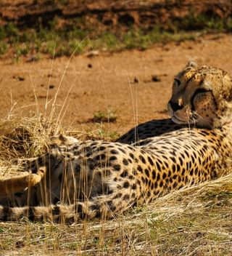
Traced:
[[229, 0], [1, 0], [0, 56], [36, 60], [232, 31]]

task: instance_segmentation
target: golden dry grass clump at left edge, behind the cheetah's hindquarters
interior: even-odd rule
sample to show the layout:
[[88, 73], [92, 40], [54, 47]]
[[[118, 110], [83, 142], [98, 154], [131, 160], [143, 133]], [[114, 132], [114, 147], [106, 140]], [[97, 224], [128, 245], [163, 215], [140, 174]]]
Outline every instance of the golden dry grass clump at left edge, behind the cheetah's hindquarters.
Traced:
[[22, 170], [20, 160], [48, 151], [51, 137], [60, 132], [55, 122], [42, 115], [0, 119], [0, 175]]

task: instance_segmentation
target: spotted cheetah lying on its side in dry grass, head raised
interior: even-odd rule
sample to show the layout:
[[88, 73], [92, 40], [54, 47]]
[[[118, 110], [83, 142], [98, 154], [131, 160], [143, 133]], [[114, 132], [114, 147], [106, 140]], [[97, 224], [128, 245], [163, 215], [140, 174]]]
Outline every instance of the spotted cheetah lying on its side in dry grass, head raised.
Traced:
[[55, 146], [30, 164], [37, 185], [0, 194], [0, 220], [111, 218], [220, 177], [231, 158], [231, 93], [228, 73], [188, 63], [173, 82], [171, 119], [141, 124], [115, 142]]

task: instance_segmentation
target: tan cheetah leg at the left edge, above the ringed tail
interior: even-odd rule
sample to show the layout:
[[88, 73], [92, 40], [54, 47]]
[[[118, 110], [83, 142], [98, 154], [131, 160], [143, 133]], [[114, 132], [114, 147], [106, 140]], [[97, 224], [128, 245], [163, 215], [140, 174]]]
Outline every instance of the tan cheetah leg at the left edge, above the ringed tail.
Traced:
[[28, 172], [26, 175], [0, 180], [0, 196], [7, 196], [23, 191], [25, 188], [34, 187], [41, 182], [45, 174], [46, 167], [40, 167], [36, 173]]

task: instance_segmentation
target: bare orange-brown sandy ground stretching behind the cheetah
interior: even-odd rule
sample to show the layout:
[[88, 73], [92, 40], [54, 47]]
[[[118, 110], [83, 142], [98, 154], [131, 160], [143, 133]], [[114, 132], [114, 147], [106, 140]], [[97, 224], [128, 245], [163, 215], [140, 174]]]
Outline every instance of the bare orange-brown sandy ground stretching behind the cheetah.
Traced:
[[[51, 116], [55, 106], [52, 117], [63, 127], [123, 134], [135, 124], [167, 117], [173, 76], [188, 60], [232, 74], [231, 49], [232, 35], [228, 34], [155, 44], [144, 52], [43, 57], [34, 63], [0, 60], [0, 117], [29, 116], [36, 111]], [[153, 81], [154, 76], [160, 81]], [[91, 119], [97, 111], [115, 112], [116, 122], [94, 123]]]

